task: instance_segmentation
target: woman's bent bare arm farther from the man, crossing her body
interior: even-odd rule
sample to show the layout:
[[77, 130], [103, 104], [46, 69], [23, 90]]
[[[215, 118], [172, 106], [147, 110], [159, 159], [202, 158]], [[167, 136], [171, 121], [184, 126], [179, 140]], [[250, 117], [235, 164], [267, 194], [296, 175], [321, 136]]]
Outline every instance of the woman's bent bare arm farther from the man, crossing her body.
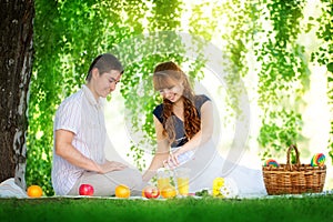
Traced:
[[169, 157], [169, 165], [178, 165], [178, 155], [199, 148], [201, 144], [208, 142], [213, 134], [214, 120], [213, 120], [213, 107], [211, 101], [206, 101], [201, 107], [201, 127], [200, 131], [184, 145], [178, 149], [174, 153]]

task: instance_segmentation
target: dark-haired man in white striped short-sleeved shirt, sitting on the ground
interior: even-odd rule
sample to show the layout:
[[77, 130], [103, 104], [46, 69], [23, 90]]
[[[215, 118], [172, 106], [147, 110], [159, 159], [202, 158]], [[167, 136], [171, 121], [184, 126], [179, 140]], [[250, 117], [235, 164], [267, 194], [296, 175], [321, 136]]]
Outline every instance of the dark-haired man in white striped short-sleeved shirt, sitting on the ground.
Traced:
[[[109, 53], [91, 63], [87, 84], [67, 98], [54, 119], [52, 185], [58, 195], [78, 195], [83, 183], [94, 195], [113, 195], [118, 184], [134, 190], [142, 183], [138, 170], [105, 159], [107, 130], [103, 101], [117, 87], [123, 68]], [[141, 188], [139, 188], [141, 190]]]

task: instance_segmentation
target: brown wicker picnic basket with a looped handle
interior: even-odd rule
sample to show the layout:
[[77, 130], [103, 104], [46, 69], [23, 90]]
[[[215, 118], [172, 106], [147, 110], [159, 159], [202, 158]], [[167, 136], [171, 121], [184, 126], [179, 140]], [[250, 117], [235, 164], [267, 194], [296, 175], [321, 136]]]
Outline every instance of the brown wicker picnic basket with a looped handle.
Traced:
[[[291, 164], [290, 153], [295, 150], [296, 164]], [[286, 164], [263, 167], [263, 178], [269, 195], [319, 193], [323, 191], [326, 165], [312, 167], [300, 163], [300, 153], [291, 145], [286, 153]]]

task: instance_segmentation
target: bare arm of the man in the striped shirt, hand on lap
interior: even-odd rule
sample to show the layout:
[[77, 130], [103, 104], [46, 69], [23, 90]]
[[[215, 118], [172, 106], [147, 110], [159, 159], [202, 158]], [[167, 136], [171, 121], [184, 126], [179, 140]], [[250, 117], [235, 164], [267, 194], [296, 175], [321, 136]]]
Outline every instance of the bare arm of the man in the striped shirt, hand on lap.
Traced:
[[127, 165], [107, 161], [103, 164], [98, 164], [93, 160], [84, 157], [79, 150], [72, 145], [74, 133], [68, 130], [56, 131], [56, 154], [63, 158], [68, 162], [88, 171], [105, 173], [109, 171], [117, 171], [127, 168]]

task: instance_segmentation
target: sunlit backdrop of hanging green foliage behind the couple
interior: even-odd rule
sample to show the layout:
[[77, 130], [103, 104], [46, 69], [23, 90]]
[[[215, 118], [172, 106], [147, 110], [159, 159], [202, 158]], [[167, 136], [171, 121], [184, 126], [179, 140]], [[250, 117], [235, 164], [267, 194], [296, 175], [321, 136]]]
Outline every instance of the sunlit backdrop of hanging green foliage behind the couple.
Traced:
[[[158, 62], [173, 60], [195, 92], [212, 99], [221, 155], [239, 147], [240, 164], [261, 168], [268, 158], [285, 163], [287, 147], [296, 143], [301, 163], [326, 155], [325, 189], [333, 188], [332, 1], [34, 0], [34, 6], [27, 185], [40, 184], [53, 195], [56, 110], [85, 83], [93, 58], [112, 52], [125, 73], [105, 107], [108, 159], [142, 171], [149, 167], [155, 149], [152, 110], [160, 99], [150, 79]], [[171, 34], [154, 36], [160, 32]], [[196, 40], [184, 41], [186, 34]], [[151, 41], [142, 41], [148, 36]], [[216, 51], [204, 50], [208, 44]]]

